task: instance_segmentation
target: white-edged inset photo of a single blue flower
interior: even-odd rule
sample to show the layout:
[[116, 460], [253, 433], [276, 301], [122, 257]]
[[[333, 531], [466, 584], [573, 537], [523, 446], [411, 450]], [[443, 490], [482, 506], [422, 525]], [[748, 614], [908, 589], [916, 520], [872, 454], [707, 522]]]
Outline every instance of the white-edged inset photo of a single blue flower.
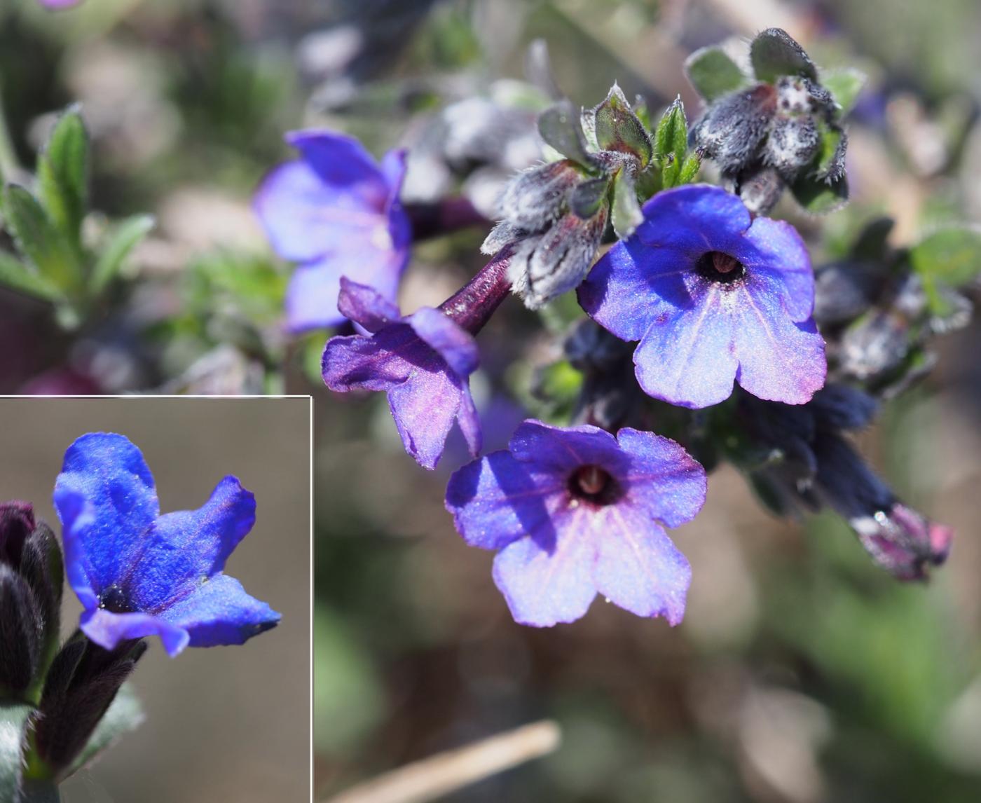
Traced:
[[0, 801], [310, 799], [311, 415], [0, 398]]

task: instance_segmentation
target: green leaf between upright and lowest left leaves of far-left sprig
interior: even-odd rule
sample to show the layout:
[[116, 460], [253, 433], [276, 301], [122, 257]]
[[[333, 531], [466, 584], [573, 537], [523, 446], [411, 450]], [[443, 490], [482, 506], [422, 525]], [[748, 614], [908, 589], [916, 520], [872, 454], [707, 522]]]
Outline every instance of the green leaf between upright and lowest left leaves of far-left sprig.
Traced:
[[18, 250], [38, 273], [70, 295], [80, 284], [77, 255], [37, 199], [17, 184], [3, 192], [3, 213]]

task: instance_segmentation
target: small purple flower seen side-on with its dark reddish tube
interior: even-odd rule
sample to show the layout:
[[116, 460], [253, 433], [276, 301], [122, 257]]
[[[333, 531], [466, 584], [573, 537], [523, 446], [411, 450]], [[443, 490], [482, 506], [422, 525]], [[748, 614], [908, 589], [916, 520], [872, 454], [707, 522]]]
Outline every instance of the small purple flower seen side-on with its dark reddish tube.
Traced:
[[424, 468], [436, 468], [454, 420], [471, 456], [480, 454], [469, 380], [480, 361], [473, 335], [508, 294], [509, 259], [505, 248], [439, 309], [423, 307], [405, 318], [372, 288], [340, 279], [340, 311], [372, 334], [331, 338], [324, 382], [338, 392], [384, 390], [405, 451]]

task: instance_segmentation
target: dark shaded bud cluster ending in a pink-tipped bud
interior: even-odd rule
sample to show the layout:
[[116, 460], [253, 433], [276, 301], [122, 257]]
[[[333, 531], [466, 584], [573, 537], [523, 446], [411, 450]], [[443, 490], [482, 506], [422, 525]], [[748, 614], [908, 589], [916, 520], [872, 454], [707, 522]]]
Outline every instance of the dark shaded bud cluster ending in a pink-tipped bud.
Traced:
[[741, 394], [739, 423], [762, 449], [749, 476], [779, 512], [827, 506], [877, 565], [923, 579], [947, 559], [954, 533], [906, 507], [855, 451], [847, 432], [867, 426], [876, 409], [872, 397], [844, 384], [826, 385], [800, 407]]

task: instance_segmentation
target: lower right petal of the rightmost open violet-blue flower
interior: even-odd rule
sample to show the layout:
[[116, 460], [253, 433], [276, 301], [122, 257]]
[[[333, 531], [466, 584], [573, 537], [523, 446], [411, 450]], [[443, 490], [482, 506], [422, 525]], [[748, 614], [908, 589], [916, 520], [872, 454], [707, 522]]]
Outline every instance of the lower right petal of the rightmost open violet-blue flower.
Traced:
[[749, 283], [733, 305], [737, 381], [760, 399], [803, 404], [824, 386], [824, 340], [812, 319], [791, 320], [777, 293]]

